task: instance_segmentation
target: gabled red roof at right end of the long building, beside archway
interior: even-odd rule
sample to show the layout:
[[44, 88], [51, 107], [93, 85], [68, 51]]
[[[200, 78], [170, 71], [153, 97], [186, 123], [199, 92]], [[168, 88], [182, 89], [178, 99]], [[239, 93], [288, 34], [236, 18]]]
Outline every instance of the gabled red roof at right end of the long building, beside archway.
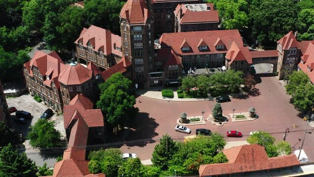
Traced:
[[246, 60], [249, 64], [252, 63], [252, 56], [247, 47], [238, 47], [235, 42], [232, 43], [230, 49], [226, 54], [226, 59], [229, 59], [229, 64], [233, 61]]

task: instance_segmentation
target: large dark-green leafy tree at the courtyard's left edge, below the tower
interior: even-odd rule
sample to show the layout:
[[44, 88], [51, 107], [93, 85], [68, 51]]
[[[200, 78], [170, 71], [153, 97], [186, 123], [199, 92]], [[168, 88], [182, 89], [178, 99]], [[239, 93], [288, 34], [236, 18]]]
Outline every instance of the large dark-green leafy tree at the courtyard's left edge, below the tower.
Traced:
[[137, 109], [133, 96], [132, 81], [122, 76], [121, 73], [113, 74], [106, 82], [99, 85], [100, 100], [97, 108], [100, 108], [106, 120], [116, 126], [123, 125], [130, 118], [134, 118]]

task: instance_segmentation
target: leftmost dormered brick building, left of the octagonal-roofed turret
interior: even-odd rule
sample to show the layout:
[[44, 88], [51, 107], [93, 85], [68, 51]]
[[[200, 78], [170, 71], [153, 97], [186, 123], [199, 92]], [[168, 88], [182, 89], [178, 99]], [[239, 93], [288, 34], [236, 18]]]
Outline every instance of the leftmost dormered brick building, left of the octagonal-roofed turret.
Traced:
[[62, 112], [63, 107], [58, 76], [65, 67], [56, 52], [45, 54], [41, 51], [37, 51], [23, 67], [30, 94], [39, 96], [57, 112]]

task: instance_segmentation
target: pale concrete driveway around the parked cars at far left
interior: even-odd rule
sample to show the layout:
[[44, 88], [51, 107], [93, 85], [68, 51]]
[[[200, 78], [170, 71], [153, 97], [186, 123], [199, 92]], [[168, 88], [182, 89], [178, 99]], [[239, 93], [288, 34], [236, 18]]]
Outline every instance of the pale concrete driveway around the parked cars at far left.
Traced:
[[[29, 94], [22, 95], [16, 98], [7, 98], [7, 103], [9, 107], [16, 107], [17, 110], [24, 110], [29, 112], [33, 118], [31, 120], [28, 119], [27, 124], [21, 125], [14, 122], [16, 118], [15, 113], [11, 114], [10, 125], [17, 130], [19, 134], [22, 134], [24, 137], [27, 137], [28, 132], [30, 130], [29, 126], [34, 125], [36, 121], [40, 118], [43, 112], [47, 110], [47, 107], [41, 103], [35, 101]], [[65, 137], [65, 130], [63, 126], [63, 115], [57, 116], [54, 114], [50, 120], [56, 121], [56, 129], [61, 132], [61, 135]], [[42, 166], [45, 162], [49, 167], [54, 167], [56, 162], [56, 155], [51, 154], [43, 154], [40, 153], [38, 149], [33, 149], [29, 145], [29, 140], [26, 140], [25, 143], [19, 146], [19, 150], [25, 151], [27, 156], [36, 162], [36, 165]]]

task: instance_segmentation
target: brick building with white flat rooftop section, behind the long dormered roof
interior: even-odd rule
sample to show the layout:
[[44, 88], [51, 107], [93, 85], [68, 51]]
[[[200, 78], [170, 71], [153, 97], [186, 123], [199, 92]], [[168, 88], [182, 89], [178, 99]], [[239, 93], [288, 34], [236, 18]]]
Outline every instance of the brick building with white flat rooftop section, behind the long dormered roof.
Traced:
[[218, 29], [219, 15], [213, 3], [178, 4], [173, 13], [174, 32]]

